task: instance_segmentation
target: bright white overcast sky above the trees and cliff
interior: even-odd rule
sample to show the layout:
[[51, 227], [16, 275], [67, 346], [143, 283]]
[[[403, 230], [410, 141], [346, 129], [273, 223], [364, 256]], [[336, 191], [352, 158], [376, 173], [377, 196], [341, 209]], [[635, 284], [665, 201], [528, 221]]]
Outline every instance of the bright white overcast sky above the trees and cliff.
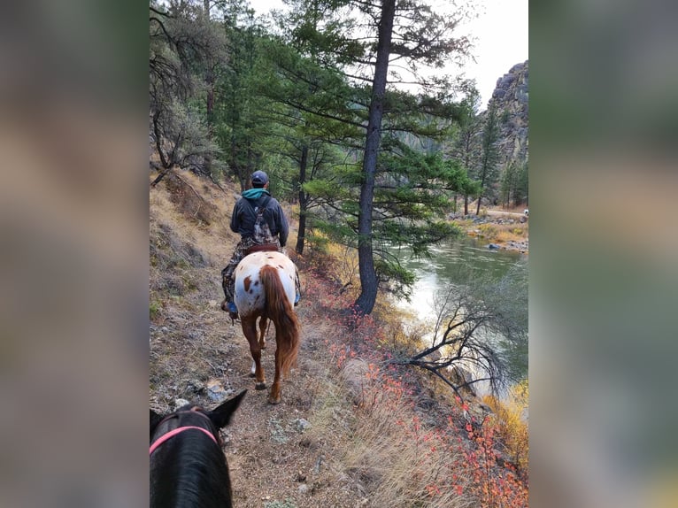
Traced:
[[[458, 35], [476, 39], [472, 51], [476, 63], [469, 61], [463, 70], [466, 78], [475, 79], [484, 110], [497, 79], [508, 73], [513, 65], [528, 59], [528, 0], [471, 1], [478, 6], [479, 16], [459, 27]], [[281, 0], [250, 0], [250, 4], [258, 14], [283, 7]], [[456, 71], [450, 67], [446, 72], [454, 74]]]

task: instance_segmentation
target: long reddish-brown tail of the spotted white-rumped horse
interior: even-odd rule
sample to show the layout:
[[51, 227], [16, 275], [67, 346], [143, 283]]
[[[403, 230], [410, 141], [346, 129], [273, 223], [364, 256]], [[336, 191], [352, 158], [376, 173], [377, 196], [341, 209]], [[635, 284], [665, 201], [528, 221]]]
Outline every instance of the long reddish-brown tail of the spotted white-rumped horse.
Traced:
[[285, 289], [274, 266], [263, 266], [259, 279], [266, 295], [266, 315], [275, 325], [277, 354], [281, 357], [282, 373], [289, 375], [289, 369], [297, 361], [299, 351], [299, 319], [292, 304], [285, 296]]

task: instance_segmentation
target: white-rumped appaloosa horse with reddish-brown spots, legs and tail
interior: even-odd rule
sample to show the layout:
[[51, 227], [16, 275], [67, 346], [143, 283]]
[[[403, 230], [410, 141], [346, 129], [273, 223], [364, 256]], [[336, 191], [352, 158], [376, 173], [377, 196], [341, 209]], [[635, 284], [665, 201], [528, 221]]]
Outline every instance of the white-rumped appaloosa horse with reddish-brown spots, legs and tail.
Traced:
[[[277, 251], [260, 251], [245, 256], [235, 268], [234, 301], [243, 325], [243, 334], [250, 343], [254, 360], [251, 373], [255, 389], [266, 389], [261, 366], [261, 350], [266, 348], [266, 326], [271, 319], [275, 326], [275, 377], [268, 402], [281, 401], [281, 375], [288, 376], [299, 350], [299, 320], [294, 311], [297, 270], [287, 256]], [[259, 334], [257, 334], [257, 319]]]

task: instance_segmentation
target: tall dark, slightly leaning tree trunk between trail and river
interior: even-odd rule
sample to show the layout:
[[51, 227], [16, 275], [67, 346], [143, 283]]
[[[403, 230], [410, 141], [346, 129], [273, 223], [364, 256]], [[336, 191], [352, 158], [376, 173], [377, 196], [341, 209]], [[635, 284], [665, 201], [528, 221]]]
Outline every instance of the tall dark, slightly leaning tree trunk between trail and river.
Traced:
[[358, 212], [358, 268], [360, 271], [360, 295], [354, 303], [359, 314], [369, 314], [377, 299], [377, 274], [374, 270], [372, 250], [372, 208], [374, 198], [374, 175], [377, 155], [381, 144], [381, 118], [383, 117], [386, 78], [389, 71], [389, 54], [393, 19], [396, 16], [396, 0], [383, 0], [379, 23], [377, 58], [374, 65], [372, 100], [363, 158], [363, 183], [360, 188], [360, 211]]

